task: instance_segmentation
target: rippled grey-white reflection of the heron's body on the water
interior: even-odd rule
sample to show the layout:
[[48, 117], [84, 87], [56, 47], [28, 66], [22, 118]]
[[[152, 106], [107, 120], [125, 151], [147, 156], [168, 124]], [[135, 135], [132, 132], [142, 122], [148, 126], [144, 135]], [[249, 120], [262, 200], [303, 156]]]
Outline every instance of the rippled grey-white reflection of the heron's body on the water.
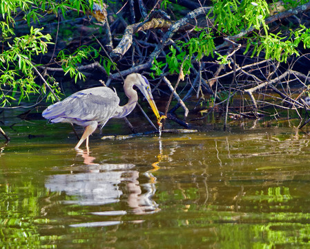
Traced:
[[64, 198], [62, 203], [65, 204], [95, 206], [120, 203], [110, 208], [101, 207], [93, 213], [96, 215], [106, 214], [104, 210], [122, 214], [151, 214], [160, 210], [153, 200], [155, 183], [155, 176], [138, 171], [134, 164], [99, 163], [88, 167], [72, 166], [70, 174], [48, 176], [45, 187], [51, 192], [66, 192], [67, 196], [71, 196]]

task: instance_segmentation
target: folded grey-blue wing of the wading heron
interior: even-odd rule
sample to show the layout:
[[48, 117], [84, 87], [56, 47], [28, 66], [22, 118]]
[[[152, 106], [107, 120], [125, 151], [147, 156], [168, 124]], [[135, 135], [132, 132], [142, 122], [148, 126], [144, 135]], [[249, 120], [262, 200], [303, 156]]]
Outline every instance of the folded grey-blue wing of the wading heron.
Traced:
[[52, 104], [42, 116], [52, 122], [106, 122], [119, 107], [116, 93], [105, 86], [86, 89], [70, 95], [61, 102]]

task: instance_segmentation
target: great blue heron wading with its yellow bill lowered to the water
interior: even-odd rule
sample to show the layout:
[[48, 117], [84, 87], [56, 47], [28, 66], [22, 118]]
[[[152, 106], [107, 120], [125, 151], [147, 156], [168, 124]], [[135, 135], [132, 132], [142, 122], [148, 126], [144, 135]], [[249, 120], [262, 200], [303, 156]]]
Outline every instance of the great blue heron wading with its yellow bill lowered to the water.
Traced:
[[68, 122], [85, 127], [75, 149], [79, 149], [84, 140], [88, 147], [88, 137], [97, 129], [98, 124], [104, 127], [110, 118], [123, 118], [133, 111], [138, 100], [137, 91], [133, 89], [133, 85], [142, 91], [160, 122], [161, 118], [153, 100], [150, 84], [146, 77], [139, 73], [132, 73], [126, 77], [124, 91], [128, 97], [128, 103], [122, 107], [119, 107], [119, 97], [115, 91], [106, 86], [99, 86], [78, 91], [61, 102], [50, 105], [43, 111], [42, 116], [51, 122]]

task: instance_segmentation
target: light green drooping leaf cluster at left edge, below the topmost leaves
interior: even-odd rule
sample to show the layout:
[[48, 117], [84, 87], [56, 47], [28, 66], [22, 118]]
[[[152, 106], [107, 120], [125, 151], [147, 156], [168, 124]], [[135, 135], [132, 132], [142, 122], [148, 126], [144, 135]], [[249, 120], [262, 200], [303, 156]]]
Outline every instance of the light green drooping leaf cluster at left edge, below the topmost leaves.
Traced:
[[[5, 23], [1, 23], [3, 30], [3, 38], [8, 39], [8, 35], [14, 35], [11, 28]], [[0, 54], [0, 80], [1, 80], [1, 105], [9, 104], [10, 100], [15, 100], [14, 96], [17, 90], [19, 102], [24, 98], [28, 98], [30, 93], [45, 92], [35, 82], [35, 75], [32, 71], [34, 64], [32, 58], [47, 52], [48, 44], [51, 44], [50, 35], [43, 35], [43, 28], [30, 28], [29, 35], [15, 37], [12, 43], [8, 42], [8, 49]]]

